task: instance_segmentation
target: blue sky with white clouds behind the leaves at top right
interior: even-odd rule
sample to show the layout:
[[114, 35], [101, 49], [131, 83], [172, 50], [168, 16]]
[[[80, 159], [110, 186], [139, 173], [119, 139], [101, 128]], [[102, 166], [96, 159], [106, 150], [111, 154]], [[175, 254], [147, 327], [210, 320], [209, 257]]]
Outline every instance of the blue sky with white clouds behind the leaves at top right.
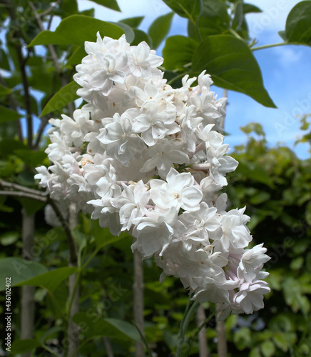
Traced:
[[[250, 34], [258, 40], [258, 46], [279, 43], [282, 40], [277, 31], [285, 29], [285, 21], [290, 9], [297, 0], [249, 0], [263, 10], [261, 14], [249, 14]], [[122, 14], [87, 0], [78, 0], [79, 9], [95, 7], [96, 17], [102, 20], [118, 21], [132, 16], [145, 16], [141, 29], [148, 27], [158, 16], [170, 11], [161, 0], [118, 0]], [[175, 15], [168, 36], [186, 35], [186, 21]], [[163, 44], [158, 49], [160, 52]], [[311, 48], [308, 46], [280, 46], [254, 52], [262, 70], [265, 88], [277, 109], [268, 109], [244, 94], [233, 91], [228, 93], [228, 111], [225, 121], [227, 136], [225, 141], [231, 147], [245, 142], [245, 135], [240, 131], [252, 121], [262, 124], [270, 145], [278, 142], [294, 147], [295, 140], [302, 134], [299, 116], [311, 113]], [[213, 89], [222, 96], [222, 89]], [[298, 116], [298, 117], [297, 117]], [[295, 147], [297, 156], [304, 159], [309, 156], [307, 144]]]

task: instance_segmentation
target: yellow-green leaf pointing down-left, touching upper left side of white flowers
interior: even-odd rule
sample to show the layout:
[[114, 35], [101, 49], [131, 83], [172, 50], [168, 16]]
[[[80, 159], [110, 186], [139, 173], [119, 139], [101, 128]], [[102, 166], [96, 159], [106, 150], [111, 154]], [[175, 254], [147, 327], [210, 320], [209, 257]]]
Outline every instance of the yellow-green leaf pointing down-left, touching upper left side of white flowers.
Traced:
[[41, 116], [49, 114], [51, 113], [51, 111], [57, 111], [66, 106], [67, 104], [78, 99], [79, 96], [76, 94], [76, 91], [79, 88], [80, 86], [76, 84], [75, 81], [72, 81], [66, 84], [66, 86], [63, 86], [63, 88], [61, 88], [56, 94], [54, 94], [52, 98], [48, 101], [41, 113]]

